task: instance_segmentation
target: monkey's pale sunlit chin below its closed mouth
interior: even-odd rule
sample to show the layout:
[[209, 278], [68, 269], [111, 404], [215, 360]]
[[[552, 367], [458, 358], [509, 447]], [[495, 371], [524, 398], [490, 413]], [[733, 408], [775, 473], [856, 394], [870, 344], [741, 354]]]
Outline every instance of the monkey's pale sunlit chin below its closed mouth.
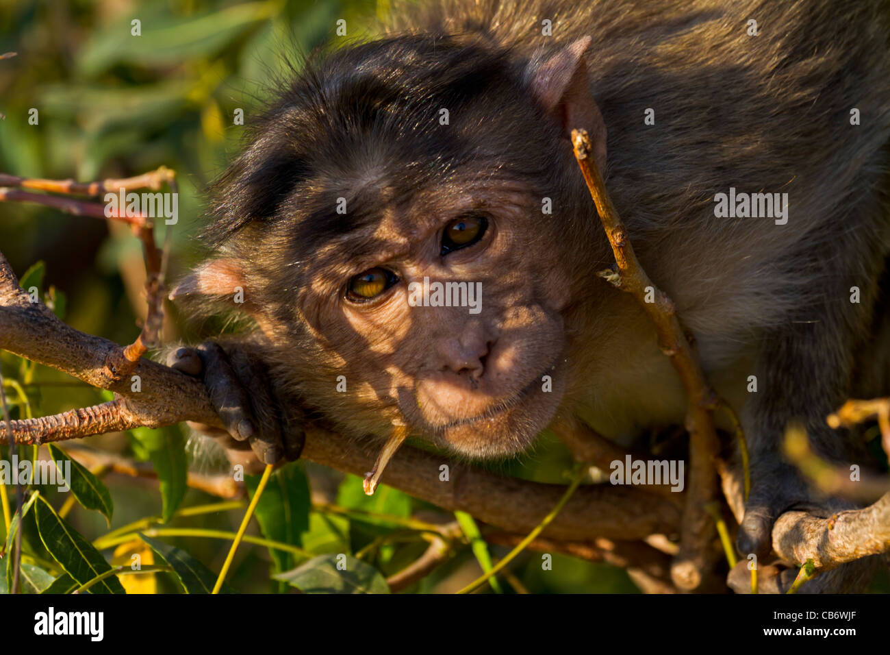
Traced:
[[526, 451], [554, 418], [562, 402], [563, 377], [553, 374], [553, 389], [542, 389], [540, 377], [515, 397], [471, 419], [425, 430], [437, 447], [470, 459], [503, 459]]

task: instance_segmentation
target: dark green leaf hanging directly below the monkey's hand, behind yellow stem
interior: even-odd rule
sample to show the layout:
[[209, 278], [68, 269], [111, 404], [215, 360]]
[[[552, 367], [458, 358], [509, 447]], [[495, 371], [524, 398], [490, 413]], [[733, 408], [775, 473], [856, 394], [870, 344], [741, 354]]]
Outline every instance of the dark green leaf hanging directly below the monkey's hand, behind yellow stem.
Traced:
[[[244, 483], [253, 497], [262, 476], [247, 475]], [[309, 480], [299, 462], [291, 462], [272, 473], [260, 502], [256, 504], [256, 520], [263, 536], [291, 545], [303, 545], [302, 534], [309, 529]], [[294, 553], [269, 549], [275, 570], [292, 569]]]

